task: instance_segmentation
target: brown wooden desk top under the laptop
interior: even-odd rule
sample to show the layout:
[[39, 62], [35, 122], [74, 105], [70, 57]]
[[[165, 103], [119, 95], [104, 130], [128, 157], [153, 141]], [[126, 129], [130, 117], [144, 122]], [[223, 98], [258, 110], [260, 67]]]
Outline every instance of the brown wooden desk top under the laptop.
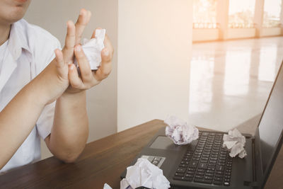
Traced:
[[[98, 188], [104, 183], [120, 188], [120, 174], [165, 124], [152, 120], [86, 145], [74, 164], [54, 157], [0, 176], [0, 188]], [[277, 158], [268, 188], [282, 188], [283, 154]], [[279, 163], [279, 164], [278, 164]]]

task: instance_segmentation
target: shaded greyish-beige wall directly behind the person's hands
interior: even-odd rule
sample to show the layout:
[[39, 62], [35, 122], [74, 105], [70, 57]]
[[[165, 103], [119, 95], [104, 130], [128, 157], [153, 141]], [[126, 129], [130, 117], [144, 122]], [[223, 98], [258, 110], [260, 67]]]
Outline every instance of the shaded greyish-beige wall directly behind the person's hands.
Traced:
[[[62, 46], [66, 35], [66, 23], [69, 19], [76, 21], [79, 10], [86, 8], [92, 12], [84, 38], [90, 38], [97, 27], [106, 28], [117, 50], [117, 1], [115, 0], [37, 0], [32, 1], [25, 19], [40, 25], [56, 36]], [[116, 51], [117, 52], [117, 51]], [[87, 93], [87, 108], [90, 124], [88, 142], [105, 137], [117, 131], [117, 55], [113, 58], [112, 73], [101, 84], [91, 88]], [[42, 158], [50, 156], [42, 145]]]

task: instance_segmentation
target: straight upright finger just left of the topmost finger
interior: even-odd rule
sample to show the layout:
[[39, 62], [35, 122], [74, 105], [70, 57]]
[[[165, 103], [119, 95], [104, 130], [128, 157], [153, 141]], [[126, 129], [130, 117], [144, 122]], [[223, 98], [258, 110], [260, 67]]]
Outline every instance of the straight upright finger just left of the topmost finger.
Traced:
[[65, 62], [72, 62], [74, 56], [74, 45], [76, 37], [76, 28], [72, 21], [67, 22], [67, 35], [65, 40], [65, 46], [62, 50], [64, 52]]

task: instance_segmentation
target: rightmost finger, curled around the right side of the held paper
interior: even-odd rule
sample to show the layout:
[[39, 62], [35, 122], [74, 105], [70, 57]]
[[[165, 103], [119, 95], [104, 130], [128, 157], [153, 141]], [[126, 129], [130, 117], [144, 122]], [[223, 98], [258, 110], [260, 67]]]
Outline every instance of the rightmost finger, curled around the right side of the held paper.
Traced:
[[104, 48], [102, 50], [101, 59], [102, 59], [102, 62], [101, 62], [99, 69], [96, 71], [95, 74], [93, 74], [95, 79], [98, 81], [102, 81], [103, 79], [108, 77], [108, 75], [112, 71], [112, 58], [111, 58], [108, 48]]

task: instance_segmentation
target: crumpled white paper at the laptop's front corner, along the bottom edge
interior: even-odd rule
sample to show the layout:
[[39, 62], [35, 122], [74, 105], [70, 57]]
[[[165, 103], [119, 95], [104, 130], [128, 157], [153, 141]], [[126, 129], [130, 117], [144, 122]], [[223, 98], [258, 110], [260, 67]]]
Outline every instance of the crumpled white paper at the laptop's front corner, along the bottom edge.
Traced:
[[127, 175], [120, 182], [120, 189], [134, 189], [140, 186], [154, 189], [168, 189], [170, 183], [163, 171], [149, 160], [139, 158], [134, 166], [127, 167]]

